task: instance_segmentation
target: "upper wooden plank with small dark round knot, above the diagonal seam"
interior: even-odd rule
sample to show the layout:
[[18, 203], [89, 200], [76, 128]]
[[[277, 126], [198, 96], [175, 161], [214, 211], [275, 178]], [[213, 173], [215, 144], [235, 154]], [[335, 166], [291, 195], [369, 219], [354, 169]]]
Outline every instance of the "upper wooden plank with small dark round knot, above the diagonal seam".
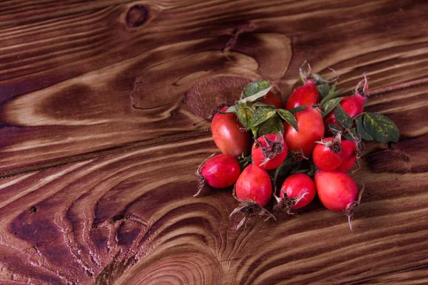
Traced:
[[285, 98], [305, 59], [335, 68], [346, 89], [364, 71], [374, 89], [428, 76], [421, 1], [148, 1], [138, 27], [126, 23], [133, 2], [8, 2], [1, 176], [207, 130], [213, 105], [249, 80], [270, 79]]

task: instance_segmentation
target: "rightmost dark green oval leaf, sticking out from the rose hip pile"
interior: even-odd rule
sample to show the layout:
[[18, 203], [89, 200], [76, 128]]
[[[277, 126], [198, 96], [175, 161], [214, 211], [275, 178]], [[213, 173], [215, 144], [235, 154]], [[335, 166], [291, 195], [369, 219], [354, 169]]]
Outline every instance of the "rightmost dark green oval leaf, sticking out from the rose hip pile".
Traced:
[[363, 125], [367, 133], [379, 142], [398, 142], [399, 131], [397, 125], [379, 113], [366, 113]]

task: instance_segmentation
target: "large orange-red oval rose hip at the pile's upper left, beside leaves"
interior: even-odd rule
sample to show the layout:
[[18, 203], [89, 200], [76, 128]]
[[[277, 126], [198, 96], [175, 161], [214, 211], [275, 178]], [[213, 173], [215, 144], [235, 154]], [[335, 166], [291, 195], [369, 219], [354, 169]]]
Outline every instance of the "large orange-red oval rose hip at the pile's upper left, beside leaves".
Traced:
[[[225, 112], [228, 106], [220, 109]], [[211, 133], [215, 145], [221, 152], [240, 156], [242, 153], [248, 154], [250, 150], [250, 133], [245, 132], [243, 125], [238, 121], [235, 114], [220, 114], [217, 113], [211, 122]]]

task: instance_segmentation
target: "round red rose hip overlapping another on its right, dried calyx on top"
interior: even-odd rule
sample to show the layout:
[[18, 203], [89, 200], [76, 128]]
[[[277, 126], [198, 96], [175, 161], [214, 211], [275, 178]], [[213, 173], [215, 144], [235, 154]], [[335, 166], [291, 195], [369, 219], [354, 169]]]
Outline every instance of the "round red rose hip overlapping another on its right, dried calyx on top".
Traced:
[[343, 161], [340, 133], [336, 138], [325, 138], [315, 145], [312, 159], [320, 170], [335, 170]]

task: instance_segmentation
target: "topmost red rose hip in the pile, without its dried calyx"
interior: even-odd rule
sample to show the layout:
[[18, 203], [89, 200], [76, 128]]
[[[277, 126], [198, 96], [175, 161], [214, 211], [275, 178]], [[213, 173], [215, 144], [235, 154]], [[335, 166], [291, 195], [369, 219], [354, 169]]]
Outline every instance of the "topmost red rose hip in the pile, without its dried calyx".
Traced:
[[285, 109], [291, 110], [301, 105], [307, 105], [307, 108], [311, 108], [312, 105], [320, 103], [320, 100], [320, 91], [318, 91], [315, 82], [308, 80], [304, 86], [300, 86], [291, 93], [285, 105]]

